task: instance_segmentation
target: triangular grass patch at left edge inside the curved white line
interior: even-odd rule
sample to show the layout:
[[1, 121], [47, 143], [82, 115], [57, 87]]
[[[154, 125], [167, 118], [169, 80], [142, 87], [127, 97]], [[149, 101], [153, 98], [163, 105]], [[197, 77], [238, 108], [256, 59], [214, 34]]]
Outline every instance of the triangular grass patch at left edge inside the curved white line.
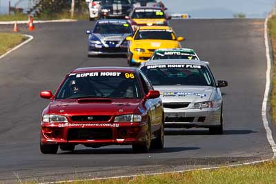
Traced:
[[0, 56], [26, 39], [27, 37], [17, 33], [0, 33]]

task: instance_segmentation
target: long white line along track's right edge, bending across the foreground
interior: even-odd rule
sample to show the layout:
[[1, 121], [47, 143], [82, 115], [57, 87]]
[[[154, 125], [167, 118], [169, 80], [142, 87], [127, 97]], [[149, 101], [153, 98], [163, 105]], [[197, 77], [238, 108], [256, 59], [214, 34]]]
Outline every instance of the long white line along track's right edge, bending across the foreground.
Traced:
[[266, 159], [262, 161], [254, 161], [254, 162], [248, 162], [248, 163], [240, 163], [235, 165], [227, 165], [227, 166], [217, 166], [217, 167], [204, 167], [200, 169], [195, 170], [179, 170], [175, 172], [159, 172], [159, 173], [152, 173], [152, 174], [135, 174], [135, 175], [128, 175], [128, 176], [115, 176], [115, 177], [103, 177], [103, 178], [91, 178], [91, 179], [81, 179], [81, 180], [69, 180], [69, 181], [55, 181], [55, 182], [48, 182], [48, 183], [41, 183], [41, 184], [52, 184], [52, 183], [73, 183], [73, 182], [81, 182], [81, 181], [97, 181], [97, 180], [104, 180], [104, 179], [117, 179], [117, 178], [131, 178], [131, 177], [137, 177], [137, 176], [155, 176], [159, 174], [177, 174], [181, 172], [191, 172], [191, 171], [198, 171], [198, 170], [215, 170], [222, 167], [237, 167], [242, 165], [252, 165], [256, 163], [264, 163], [266, 161], [271, 161], [272, 159], [275, 159], [276, 157], [276, 145], [275, 141], [273, 140], [272, 132], [270, 130], [270, 127], [268, 125], [268, 120], [266, 116], [266, 106], [268, 102], [268, 94], [270, 90], [270, 70], [271, 70], [271, 59], [270, 59], [270, 53], [269, 53], [269, 44], [268, 44], [268, 30], [267, 30], [267, 23], [268, 19], [272, 15], [268, 15], [266, 17], [266, 21], [264, 22], [264, 39], [265, 39], [265, 45], [266, 45], [266, 62], [267, 62], [267, 68], [266, 68], [266, 89], [264, 92], [264, 100], [262, 103], [262, 120], [264, 123], [264, 128], [266, 129], [266, 137], [268, 139], [268, 143], [270, 144], [272, 151], [273, 151], [273, 157], [271, 159]]

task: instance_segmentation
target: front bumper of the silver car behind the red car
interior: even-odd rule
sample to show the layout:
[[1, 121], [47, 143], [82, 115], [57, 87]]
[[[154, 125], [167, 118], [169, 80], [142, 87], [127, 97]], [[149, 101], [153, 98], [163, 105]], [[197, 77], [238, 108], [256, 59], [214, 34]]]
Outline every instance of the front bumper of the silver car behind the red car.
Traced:
[[221, 108], [175, 110], [164, 108], [165, 127], [213, 127], [221, 125]]

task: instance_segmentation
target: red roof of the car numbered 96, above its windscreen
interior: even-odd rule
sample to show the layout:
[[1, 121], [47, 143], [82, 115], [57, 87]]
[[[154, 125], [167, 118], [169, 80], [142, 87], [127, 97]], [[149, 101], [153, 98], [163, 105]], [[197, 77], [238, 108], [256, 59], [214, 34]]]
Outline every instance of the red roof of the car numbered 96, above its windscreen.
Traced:
[[88, 67], [88, 68], [77, 68], [72, 70], [70, 73], [83, 73], [83, 72], [95, 72], [95, 71], [114, 71], [114, 72], [135, 72], [135, 70], [139, 70], [137, 68], [130, 67]]

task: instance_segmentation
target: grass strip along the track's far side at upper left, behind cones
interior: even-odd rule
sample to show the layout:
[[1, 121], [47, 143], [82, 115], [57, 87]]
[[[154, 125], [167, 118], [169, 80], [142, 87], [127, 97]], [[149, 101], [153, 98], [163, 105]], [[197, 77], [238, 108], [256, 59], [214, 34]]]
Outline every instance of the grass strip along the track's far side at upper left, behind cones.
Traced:
[[[34, 20], [53, 20], [53, 19], [71, 19], [70, 12], [60, 12], [58, 14], [45, 14], [41, 13], [39, 16], [34, 17]], [[72, 19], [88, 20], [88, 12], [76, 13]], [[28, 14], [1, 14], [0, 21], [28, 21]]]

